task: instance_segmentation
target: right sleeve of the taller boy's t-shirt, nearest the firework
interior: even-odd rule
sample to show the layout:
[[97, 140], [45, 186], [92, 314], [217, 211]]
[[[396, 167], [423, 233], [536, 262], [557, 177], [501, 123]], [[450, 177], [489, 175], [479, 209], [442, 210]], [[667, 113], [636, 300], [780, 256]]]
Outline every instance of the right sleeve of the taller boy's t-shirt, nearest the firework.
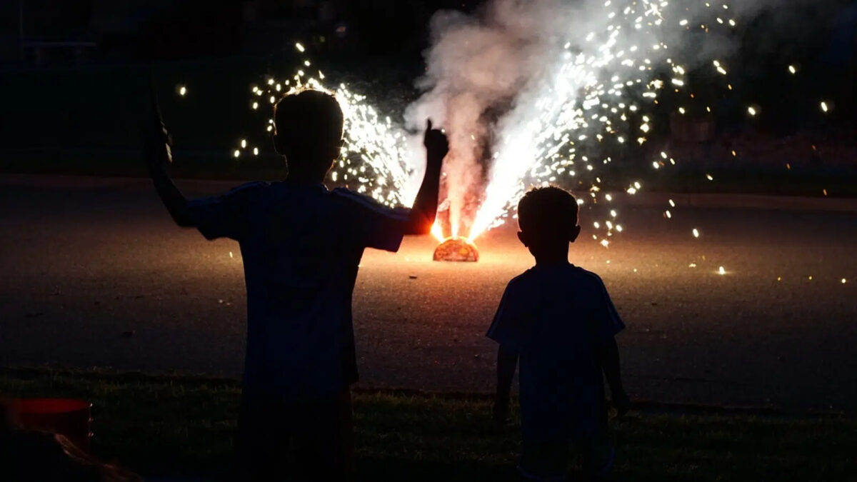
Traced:
[[390, 208], [354, 191], [333, 190], [344, 205], [343, 224], [351, 237], [365, 248], [396, 252], [411, 217], [408, 208]]

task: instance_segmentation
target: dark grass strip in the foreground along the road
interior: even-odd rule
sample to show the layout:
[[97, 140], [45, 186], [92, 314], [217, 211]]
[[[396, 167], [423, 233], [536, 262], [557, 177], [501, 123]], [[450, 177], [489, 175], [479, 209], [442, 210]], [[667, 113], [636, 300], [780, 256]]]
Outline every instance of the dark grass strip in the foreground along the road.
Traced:
[[[93, 453], [147, 475], [213, 477], [229, 461], [229, 380], [105, 371], [0, 371], [0, 395], [81, 397]], [[518, 426], [483, 395], [355, 395], [359, 480], [516, 480]], [[833, 416], [653, 414], [612, 421], [621, 480], [853, 480], [857, 422]]]

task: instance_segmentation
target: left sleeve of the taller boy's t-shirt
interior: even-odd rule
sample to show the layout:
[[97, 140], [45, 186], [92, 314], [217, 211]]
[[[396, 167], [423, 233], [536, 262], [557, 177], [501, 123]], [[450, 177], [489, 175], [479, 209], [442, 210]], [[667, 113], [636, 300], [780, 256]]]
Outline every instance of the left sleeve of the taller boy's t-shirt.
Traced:
[[247, 231], [250, 204], [267, 183], [238, 186], [221, 196], [188, 202], [190, 220], [207, 239], [232, 238], [240, 241]]

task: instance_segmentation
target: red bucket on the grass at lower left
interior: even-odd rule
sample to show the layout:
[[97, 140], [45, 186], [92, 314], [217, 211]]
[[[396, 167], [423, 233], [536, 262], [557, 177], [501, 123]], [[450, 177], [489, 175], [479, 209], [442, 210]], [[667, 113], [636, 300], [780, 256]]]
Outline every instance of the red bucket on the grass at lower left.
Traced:
[[68, 398], [22, 398], [11, 403], [22, 429], [62, 435], [89, 453], [93, 404]]

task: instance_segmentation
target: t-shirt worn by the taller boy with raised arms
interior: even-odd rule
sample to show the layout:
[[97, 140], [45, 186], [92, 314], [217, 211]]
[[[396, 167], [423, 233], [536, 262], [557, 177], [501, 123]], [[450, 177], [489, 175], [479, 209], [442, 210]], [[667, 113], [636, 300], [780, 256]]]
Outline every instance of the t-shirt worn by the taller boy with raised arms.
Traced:
[[409, 210], [321, 184], [250, 183], [189, 202], [208, 239], [241, 244], [245, 395], [306, 401], [357, 381], [351, 292], [365, 248], [397, 251]]

